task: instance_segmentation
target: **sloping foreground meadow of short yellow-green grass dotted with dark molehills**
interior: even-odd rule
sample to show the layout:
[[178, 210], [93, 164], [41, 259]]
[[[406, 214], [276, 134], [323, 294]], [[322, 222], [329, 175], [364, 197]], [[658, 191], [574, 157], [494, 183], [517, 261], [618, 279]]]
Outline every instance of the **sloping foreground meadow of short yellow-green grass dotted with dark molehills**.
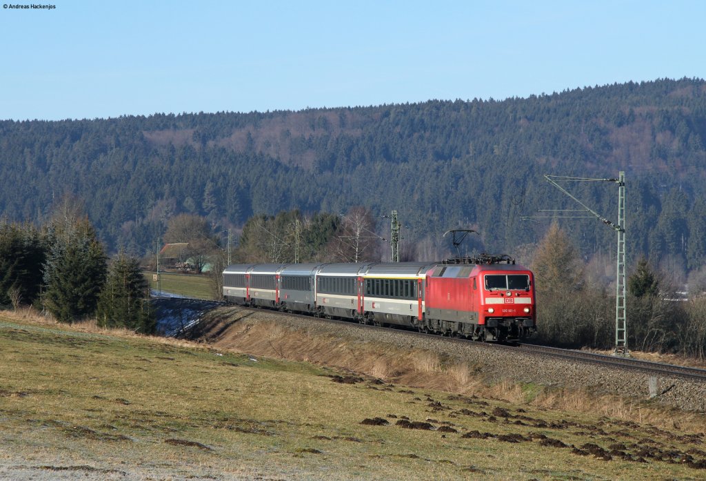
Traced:
[[0, 478], [697, 480], [701, 433], [0, 313]]

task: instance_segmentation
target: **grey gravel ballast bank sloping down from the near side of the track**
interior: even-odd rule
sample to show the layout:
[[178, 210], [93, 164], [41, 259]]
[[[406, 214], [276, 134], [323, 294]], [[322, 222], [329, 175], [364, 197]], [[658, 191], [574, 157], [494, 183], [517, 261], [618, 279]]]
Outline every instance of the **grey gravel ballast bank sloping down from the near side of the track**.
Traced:
[[[241, 307], [225, 307], [243, 309]], [[594, 393], [609, 393], [650, 399], [650, 377], [633, 369], [602, 367], [588, 362], [514, 352], [481, 343], [458, 342], [440, 336], [421, 336], [396, 329], [371, 328], [356, 323], [324, 321], [303, 316], [280, 316], [267, 311], [253, 311], [249, 321], [275, 321], [295, 330], [337, 335], [361, 343], [388, 343], [402, 349], [423, 349], [457, 360], [478, 364], [489, 381], [510, 379], [523, 383], [566, 388], [589, 388]], [[652, 381], [656, 396], [652, 402], [684, 410], [706, 412], [706, 383], [678, 376], [656, 376]]]

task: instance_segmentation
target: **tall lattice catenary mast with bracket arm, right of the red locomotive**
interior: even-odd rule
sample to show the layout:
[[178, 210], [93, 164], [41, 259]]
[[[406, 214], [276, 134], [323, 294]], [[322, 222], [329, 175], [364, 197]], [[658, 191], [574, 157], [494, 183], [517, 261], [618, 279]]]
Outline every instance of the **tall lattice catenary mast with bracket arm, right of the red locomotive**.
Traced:
[[[566, 194], [580, 206], [583, 207], [582, 212], [588, 212], [591, 215], [570, 215], [559, 218], [590, 218], [594, 217], [603, 222], [611, 229], [618, 232], [618, 251], [616, 259], [616, 345], [613, 350], [614, 356], [630, 357], [628, 351], [628, 320], [626, 313], [626, 263], [625, 263], [625, 172], [618, 173], [617, 179], [587, 179], [583, 177], [560, 177], [556, 175], [545, 175], [546, 182], [555, 186], [563, 194]], [[614, 182], [618, 184], [618, 223], [611, 222], [602, 215], [592, 210], [585, 203], [582, 203], [578, 198], [571, 195], [566, 189], [559, 185], [556, 180], [565, 182]], [[557, 218], [551, 216], [551, 218]], [[526, 219], [526, 218], [525, 218]]]

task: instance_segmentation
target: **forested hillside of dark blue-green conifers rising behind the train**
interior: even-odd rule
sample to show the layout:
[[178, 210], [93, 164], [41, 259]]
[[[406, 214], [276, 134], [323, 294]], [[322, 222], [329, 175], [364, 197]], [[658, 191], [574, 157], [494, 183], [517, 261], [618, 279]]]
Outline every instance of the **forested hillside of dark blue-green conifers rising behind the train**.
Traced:
[[[218, 231], [256, 213], [361, 205], [397, 209], [406, 242], [448, 249], [441, 234], [464, 227], [481, 232], [469, 249], [514, 253], [549, 227], [523, 216], [578, 208], [543, 174], [625, 170], [628, 261], [687, 271], [706, 254], [705, 138], [706, 82], [692, 79], [503, 101], [0, 121], [0, 215], [44, 220], [70, 193], [110, 249], [145, 254], [182, 212]], [[615, 184], [568, 189], [616, 220]], [[585, 259], [611, 264], [614, 231], [561, 222]]]

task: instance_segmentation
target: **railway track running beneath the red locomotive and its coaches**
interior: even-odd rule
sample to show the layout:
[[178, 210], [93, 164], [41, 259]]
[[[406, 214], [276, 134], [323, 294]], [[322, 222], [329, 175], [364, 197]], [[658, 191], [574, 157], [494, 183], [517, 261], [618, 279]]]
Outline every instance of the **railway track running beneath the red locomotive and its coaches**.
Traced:
[[[181, 299], [185, 301], [187, 299]], [[191, 300], [191, 299], [189, 299]], [[201, 299], [193, 299], [193, 302], [203, 302]], [[222, 305], [222, 304], [219, 304]], [[256, 307], [248, 307], [248, 309], [259, 309]], [[261, 309], [271, 314], [298, 317], [301, 319], [318, 319], [319, 321], [327, 323], [340, 323], [346, 326], [360, 326], [360, 328], [367, 329], [380, 329], [381, 331], [389, 332], [390, 328], [380, 327], [380, 326], [361, 326], [360, 324], [354, 323], [352, 321], [344, 321], [340, 319], [326, 319], [326, 318], [315, 318], [308, 316], [306, 314], [295, 314], [289, 312], [275, 311], [273, 309]], [[478, 343], [477, 341], [460, 339], [460, 338], [448, 338], [440, 335], [419, 333], [417, 331], [409, 331], [406, 329], [397, 329], [399, 333], [405, 333], [412, 337], [419, 338], [434, 338], [436, 340], [443, 340], [448, 343], [461, 343], [468, 345], [469, 343], [481, 348], [487, 349], [500, 349], [500, 350], [513, 350], [514, 352], [525, 352], [529, 355], [541, 355], [544, 357], [556, 357], [557, 359], [569, 360], [573, 362], [586, 362], [590, 364], [599, 364], [606, 368], [618, 368], [618, 369], [628, 369], [637, 372], [647, 373], [654, 376], [678, 376], [682, 379], [688, 379], [690, 381], [701, 381], [706, 382], [706, 369], [698, 369], [695, 367], [685, 367], [677, 366], [674, 364], [661, 364], [659, 362], [650, 362], [643, 360], [636, 360], [633, 358], [625, 357], [615, 357], [609, 355], [596, 354], [594, 352], [585, 352], [578, 350], [569, 350], [561, 348], [551, 348], [549, 346], [534, 345], [534, 344], [516, 344], [516, 345], [503, 345], [503, 344], [492, 344], [492, 343]]]

